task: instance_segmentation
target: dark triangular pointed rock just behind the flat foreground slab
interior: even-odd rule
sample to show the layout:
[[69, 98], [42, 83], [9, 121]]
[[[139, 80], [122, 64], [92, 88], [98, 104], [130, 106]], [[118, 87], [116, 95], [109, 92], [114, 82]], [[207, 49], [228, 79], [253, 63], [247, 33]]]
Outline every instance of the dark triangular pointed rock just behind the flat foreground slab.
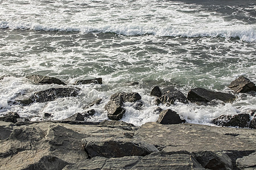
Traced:
[[181, 124], [185, 121], [181, 120], [179, 114], [177, 114], [175, 111], [172, 111], [171, 109], [167, 109], [160, 113], [159, 118], [156, 122], [158, 122], [159, 124], [170, 125], [170, 124]]

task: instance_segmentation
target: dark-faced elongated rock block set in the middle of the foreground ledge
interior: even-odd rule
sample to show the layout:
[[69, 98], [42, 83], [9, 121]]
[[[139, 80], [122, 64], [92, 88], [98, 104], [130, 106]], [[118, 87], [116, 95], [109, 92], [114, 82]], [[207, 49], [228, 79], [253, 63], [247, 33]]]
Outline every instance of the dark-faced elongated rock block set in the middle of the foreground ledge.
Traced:
[[123, 156], [146, 156], [158, 149], [154, 145], [142, 141], [131, 141], [126, 138], [86, 138], [83, 139], [85, 150], [93, 158], [104, 156], [106, 158], [119, 158]]

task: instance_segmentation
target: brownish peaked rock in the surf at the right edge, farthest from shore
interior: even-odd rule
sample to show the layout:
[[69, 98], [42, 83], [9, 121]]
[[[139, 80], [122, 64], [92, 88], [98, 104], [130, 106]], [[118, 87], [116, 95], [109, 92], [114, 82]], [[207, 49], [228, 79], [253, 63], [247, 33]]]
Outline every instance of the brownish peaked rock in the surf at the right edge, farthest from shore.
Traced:
[[240, 76], [229, 84], [229, 88], [236, 93], [246, 93], [249, 91], [256, 91], [256, 86], [249, 79]]

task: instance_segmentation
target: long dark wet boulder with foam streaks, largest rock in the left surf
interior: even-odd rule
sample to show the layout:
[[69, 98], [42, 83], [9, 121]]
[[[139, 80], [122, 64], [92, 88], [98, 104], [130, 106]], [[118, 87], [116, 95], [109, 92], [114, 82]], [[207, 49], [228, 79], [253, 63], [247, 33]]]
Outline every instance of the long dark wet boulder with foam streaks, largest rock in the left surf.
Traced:
[[35, 92], [35, 94], [24, 97], [23, 99], [17, 99], [16, 102], [23, 105], [28, 105], [34, 102], [44, 103], [58, 98], [77, 96], [79, 90], [79, 88], [73, 87], [49, 88], [47, 90]]

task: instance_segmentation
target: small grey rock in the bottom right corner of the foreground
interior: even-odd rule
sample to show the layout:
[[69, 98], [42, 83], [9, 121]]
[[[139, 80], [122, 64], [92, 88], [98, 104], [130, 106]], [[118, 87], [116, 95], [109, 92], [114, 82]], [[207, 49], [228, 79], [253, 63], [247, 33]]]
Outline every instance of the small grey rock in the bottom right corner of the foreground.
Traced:
[[256, 152], [243, 158], [236, 160], [236, 165], [239, 169], [255, 170], [256, 169]]

